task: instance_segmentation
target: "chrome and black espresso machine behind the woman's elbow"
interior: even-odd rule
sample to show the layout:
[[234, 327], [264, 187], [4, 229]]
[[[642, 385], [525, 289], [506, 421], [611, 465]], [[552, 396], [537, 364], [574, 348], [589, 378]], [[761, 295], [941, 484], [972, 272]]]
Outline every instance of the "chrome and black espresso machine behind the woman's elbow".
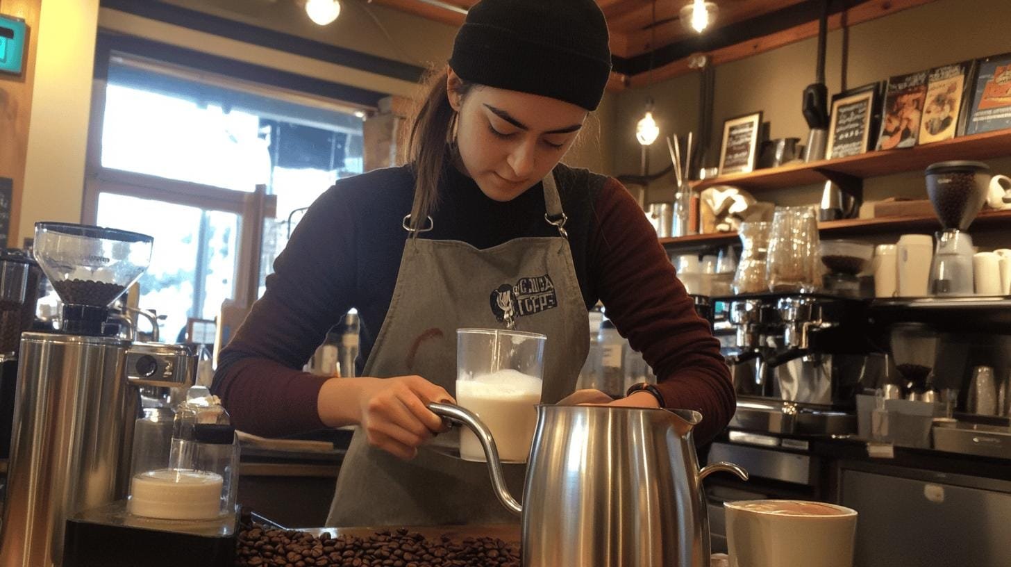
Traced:
[[856, 430], [872, 362], [866, 304], [810, 294], [726, 298], [715, 325], [738, 395], [731, 427], [775, 434]]

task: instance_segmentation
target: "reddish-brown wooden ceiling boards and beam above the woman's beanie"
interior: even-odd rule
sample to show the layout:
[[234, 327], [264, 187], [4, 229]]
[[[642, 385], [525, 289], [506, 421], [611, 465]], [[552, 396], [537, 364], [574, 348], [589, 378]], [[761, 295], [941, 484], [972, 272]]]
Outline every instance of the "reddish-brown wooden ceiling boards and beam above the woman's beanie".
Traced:
[[[431, 20], [461, 25], [477, 0], [367, 0]], [[608, 18], [615, 71], [609, 89], [641, 86], [691, 72], [691, 54], [714, 65], [736, 61], [818, 34], [817, 0], [711, 0], [716, 24], [701, 36], [681, 25], [692, 0], [596, 0]], [[829, 29], [913, 8], [934, 0], [831, 0]], [[654, 13], [655, 10], [655, 13]], [[648, 62], [648, 67], [647, 67]], [[655, 64], [655, 66], [654, 66]], [[646, 71], [651, 69], [651, 73]]]

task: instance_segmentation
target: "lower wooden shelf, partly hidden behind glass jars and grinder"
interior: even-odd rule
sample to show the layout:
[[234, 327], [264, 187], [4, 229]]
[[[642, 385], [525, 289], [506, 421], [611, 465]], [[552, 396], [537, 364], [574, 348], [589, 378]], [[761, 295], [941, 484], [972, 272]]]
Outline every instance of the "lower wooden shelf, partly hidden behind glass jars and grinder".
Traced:
[[[976, 218], [970, 230], [1007, 225], [1011, 229], [1011, 211], [984, 211]], [[900, 231], [936, 231], [940, 223], [936, 217], [878, 217], [875, 219], [845, 219], [819, 223], [820, 234], [831, 237], [881, 234]], [[716, 246], [737, 240], [736, 232], [694, 234], [679, 238], [661, 238], [664, 246]]]

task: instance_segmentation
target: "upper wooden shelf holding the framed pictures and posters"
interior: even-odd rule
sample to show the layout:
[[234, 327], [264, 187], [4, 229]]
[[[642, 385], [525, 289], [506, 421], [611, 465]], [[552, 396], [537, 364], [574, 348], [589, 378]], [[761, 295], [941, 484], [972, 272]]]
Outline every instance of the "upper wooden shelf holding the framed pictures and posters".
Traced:
[[734, 185], [756, 191], [821, 183], [826, 173], [866, 178], [924, 169], [945, 160], [983, 160], [1011, 156], [1011, 130], [999, 130], [903, 150], [867, 152], [848, 158], [798, 163], [751, 173], [734, 173], [695, 184], [702, 190], [714, 185]]

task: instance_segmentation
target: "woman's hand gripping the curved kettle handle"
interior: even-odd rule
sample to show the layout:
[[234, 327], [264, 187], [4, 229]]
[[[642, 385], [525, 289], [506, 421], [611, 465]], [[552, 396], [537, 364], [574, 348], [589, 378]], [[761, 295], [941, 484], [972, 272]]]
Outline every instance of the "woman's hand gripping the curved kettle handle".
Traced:
[[[324, 423], [358, 424], [369, 444], [406, 461], [434, 433], [445, 430], [442, 418], [429, 410], [431, 402], [456, 403], [445, 389], [420, 376], [339, 378], [324, 384], [318, 409]], [[340, 407], [326, 407], [330, 403]]]

